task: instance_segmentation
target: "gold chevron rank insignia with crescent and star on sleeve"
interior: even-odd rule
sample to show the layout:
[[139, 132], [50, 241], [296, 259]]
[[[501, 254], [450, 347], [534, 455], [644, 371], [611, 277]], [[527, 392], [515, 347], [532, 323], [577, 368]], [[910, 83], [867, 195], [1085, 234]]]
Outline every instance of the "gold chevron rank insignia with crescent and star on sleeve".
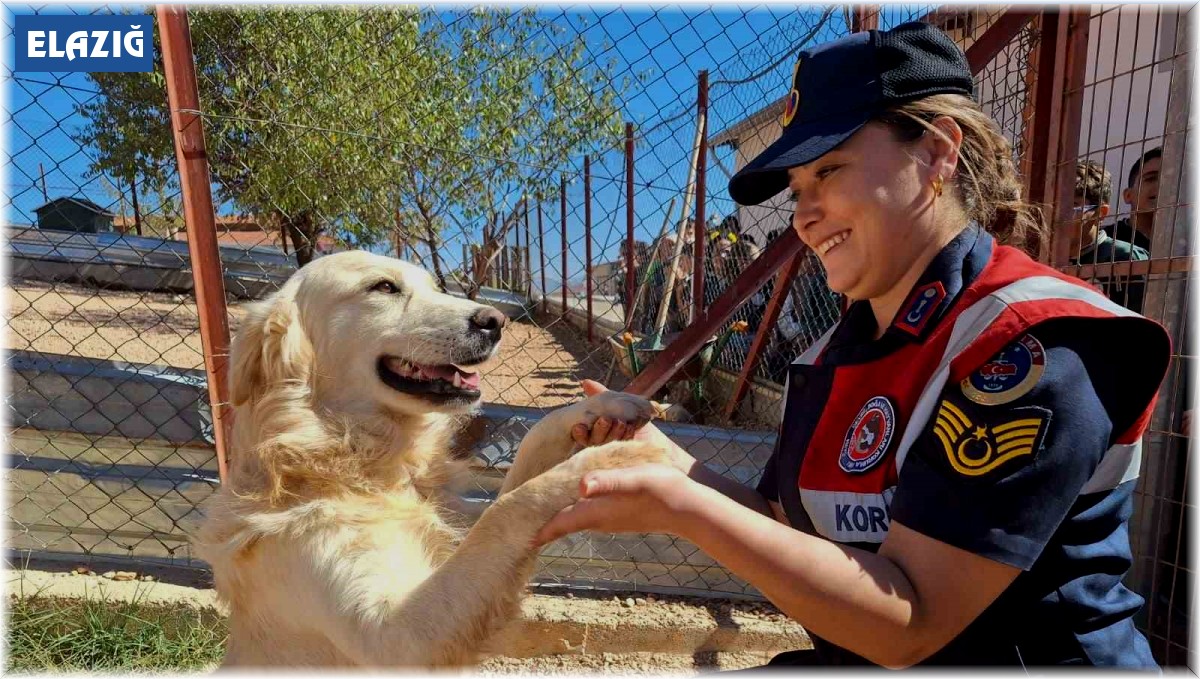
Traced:
[[934, 434], [946, 451], [950, 467], [964, 476], [984, 476], [1006, 462], [1027, 457], [1030, 462], [1042, 446], [1049, 422], [1049, 410], [1018, 408], [988, 413], [989, 420], [974, 422], [954, 403], [942, 399], [934, 422]]

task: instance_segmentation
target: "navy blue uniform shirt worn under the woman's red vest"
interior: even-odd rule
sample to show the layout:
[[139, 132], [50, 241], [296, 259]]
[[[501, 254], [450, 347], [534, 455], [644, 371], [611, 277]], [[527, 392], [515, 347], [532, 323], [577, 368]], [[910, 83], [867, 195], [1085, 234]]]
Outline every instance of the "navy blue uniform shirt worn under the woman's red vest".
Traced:
[[[917, 286], [940, 281], [947, 296], [938, 314], [979, 275], [991, 238], [968, 228], [930, 264]], [[937, 323], [937, 318], [932, 323]], [[1049, 423], [1032, 461], [978, 479], [950, 469], [931, 416], [910, 451], [890, 505], [890, 521], [935, 540], [1009, 564], [1022, 572], [947, 647], [922, 665], [1097, 665], [1156, 669], [1150, 647], [1134, 629], [1142, 599], [1122, 584], [1132, 554], [1128, 521], [1136, 480], [1086, 492], [1099, 459], [1129, 429], [1157, 391], [1166, 368], [1166, 337], [1148, 324], [1062, 318], [1030, 329], [1045, 349], [1045, 367], [1032, 390], [1001, 405], [980, 405], [948, 383], [941, 401], [976, 423], [1038, 413]], [[1112, 360], [1123, 329], [1150, 342]], [[871, 361], [919, 337], [888, 329], [874, 338], [866, 302], [856, 302], [830, 337], [822, 366]], [[821, 366], [792, 366], [797, 374]], [[829, 380], [793, 379], [790, 403], [821, 404]], [[817, 408], [809, 408], [814, 410]], [[797, 411], [808, 419], [808, 414]], [[943, 423], [944, 426], [944, 423]], [[788, 423], [785, 422], [786, 429]], [[782, 438], [782, 435], [781, 435]], [[760, 492], [786, 503], [794, 486], [779, 452], [768, 463]], [[802, 528], [803, 527], [797, 527]], [[874, 549], [874, 546], [856, 545]], [[820, 663], [858, 665], [863, 659], [814, 638]], [[809, 663], [784, 654], [778, 663]]]

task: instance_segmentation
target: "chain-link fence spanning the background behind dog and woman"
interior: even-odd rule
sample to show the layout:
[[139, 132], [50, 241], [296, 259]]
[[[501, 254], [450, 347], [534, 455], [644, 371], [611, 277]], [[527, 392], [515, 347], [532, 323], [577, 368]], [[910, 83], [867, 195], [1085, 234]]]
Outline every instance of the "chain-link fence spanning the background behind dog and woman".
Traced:
[[[790, 228], [786, 196], [737, 206], [726, 185], [779, 134], [798, 49], [911, 19], [970, 49], [1012, 11], [197, 7], [188, 17], [232, 328], [246, 301], [298, 265], [346, 248], [419, 263], [448, 292], [508, 313], [500, 359], [482, 378], [484, 415], [460, 444], [475, 461], [467, 495], [481, 509], [538, 416], [578, 398], [583, 378], [622, 389], [694, 323], [697, 275], [703, 310]], [[1033, 92], [1050, 72], [1039, 64], [1050, 53], [1045, 26], [1030, 16], [977, 74], [984, 109], [1026, 174], [1037, 169], [1046, 108]], [[1171, 101], [1184, 101], [1171, 89], [1171, 67], [1188, 56], [1174, 17], [1152, 7], [1090, 17], [1078, 155], [1102, 158], [1114, 181], [1178, 115], [1154, 88], [1165, 78]], [[11, 35], [12, 14], [5, 20]], [[186, 536], [217, 465], [155, 37], [152, 73], [7, 65], [10, 549], [203, 567]], [[1150, 61], [1140, 47], [1122, 61], [1122, 49], [1147, 43]], [[1151, 96], [1141, 97], [1147, 77]], [[1177, 163], [1176, 193], [1158, 210], [1182, 223], [1182, 151], [1172, 152], [1163, 172]], [[1060, 158], [1051, 173], [1073, 166]], [[1156, 233], [1162, 252], [1189, 254], [1176, 235]], [[1146, 313], [1160, 319], [1186, 306], [1189, 281], [1186, 265], [1164, 262], [1142, 272]], [[779, 320], [767, 324], [776, 294]], [[655, 395], [674, 405], [662, 427], [714, 469], [754, 483], [774, 445], [786, 366], [842, 305], [809, 254], [791, 282], [776, 277], [740, 305], [704, 359]], [[1176, 347], [1184, 374], [1190, 349]], [[751, 359], [745, 396], [733, 399]], [[1176, 415], [1181, 381], [1160, 399]], [[1142, 626], [1164, 662], [1187, 651], [1192, 600], [1182, 539], [1189, 439], [1176, 415], [1151, 433], [1159, 443], [1150, 445], [1174, 452], [1144, 474], [1130, 578], [1148, 597]], [[660, 535], [565, 537], [547, 547], [536, 579], [758, 596], [692, 545]]]

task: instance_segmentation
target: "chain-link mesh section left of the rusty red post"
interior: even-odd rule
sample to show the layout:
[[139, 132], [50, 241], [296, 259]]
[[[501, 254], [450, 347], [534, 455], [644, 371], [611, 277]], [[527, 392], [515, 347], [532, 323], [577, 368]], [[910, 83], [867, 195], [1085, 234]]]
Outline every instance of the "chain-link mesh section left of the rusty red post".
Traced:
[[[84, 73], [5, 76], [8, 548], [198, 567], [187, 531], [217, 474], [174, 160], [106, 166]], [[127, 142], [169, 150], [157, 122]]]

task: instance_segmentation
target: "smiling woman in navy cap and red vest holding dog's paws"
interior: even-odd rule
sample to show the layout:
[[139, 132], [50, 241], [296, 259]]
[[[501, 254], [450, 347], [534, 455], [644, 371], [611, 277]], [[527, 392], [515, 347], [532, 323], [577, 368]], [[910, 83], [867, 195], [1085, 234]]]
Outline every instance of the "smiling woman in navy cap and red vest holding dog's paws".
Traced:
[[[1121, 578], [1169, 340], [1028, 257], [1040, 218], [974, 97], [923, 23], [800, 53], [781, 138], [730, 193], [790, 187], [792, 228], [854, 301], [790, 367], [758, 486], [674, 447], [587, 476], [540, 540], [695, 542], [812, 635], [772, 665], [1154, 666]], [[1142, 350], [1114, 365], [1112, 335]]]

